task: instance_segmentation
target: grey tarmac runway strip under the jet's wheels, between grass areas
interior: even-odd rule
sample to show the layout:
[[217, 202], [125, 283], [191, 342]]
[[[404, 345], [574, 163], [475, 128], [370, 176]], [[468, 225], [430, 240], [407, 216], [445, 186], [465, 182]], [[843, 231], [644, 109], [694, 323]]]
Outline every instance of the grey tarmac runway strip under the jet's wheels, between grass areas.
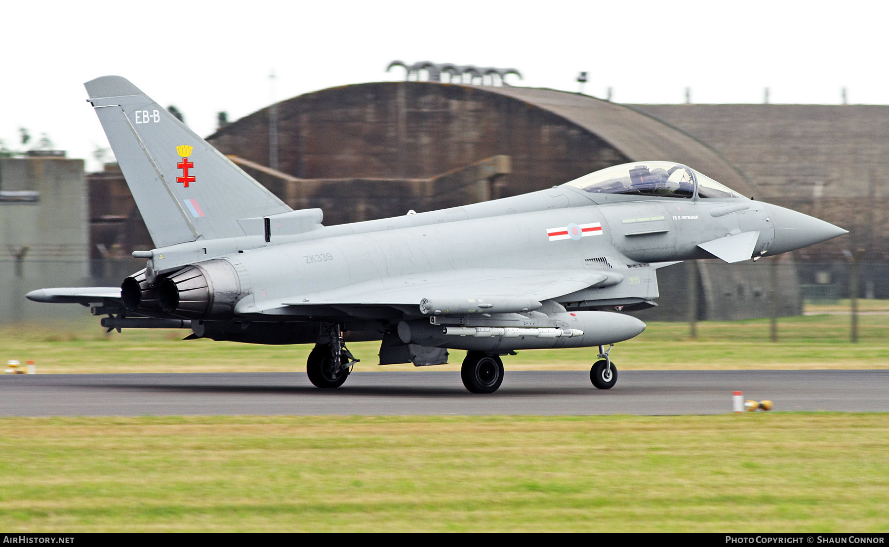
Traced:
[[418, 370], [357, 371], [334, 390], [304, 372], [4, 375], [0, 416], [725, 414], [735, 390], [775, 411], [889, 411], [889, 370], [629, 370], [608, 391], [583, 371], [507, 370], [490, 395]]

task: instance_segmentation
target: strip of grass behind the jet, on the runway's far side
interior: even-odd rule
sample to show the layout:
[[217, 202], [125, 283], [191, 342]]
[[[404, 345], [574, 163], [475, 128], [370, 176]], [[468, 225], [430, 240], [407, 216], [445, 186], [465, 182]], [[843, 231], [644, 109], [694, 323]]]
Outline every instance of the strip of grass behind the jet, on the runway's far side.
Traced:
[[[651, 322], [640, 336], [615, 346], [619, 369], [885, 369], [889, 368], [889, 308], [885, 301], [861, 300], [860, 341], [849, 342], [846, 303], [810, 305], [821, 313], [782, 318], [780, 340], [769, 341], [769, 321], [701, 321], [699, 336], [688, 337], [682, 322]], [[38, 373], [233, 372], [304, 370], [310, 345], [246, 345], [181, 338], [184, 330], [124, 329], [104, 333], [98, 319], [52, 327], [0, 328], [0, 360], [36, 361]], [[349, 345], [360, 370], [404, 370], [412, 365], [376, 365], [379, 342]], [[589, 369], [595, 348], [534, 350], [504, 358], [507, 369]], [[421, 370], [456, 370], [451, 364]], [[5, 362], [5, 361], [3, 361]]]

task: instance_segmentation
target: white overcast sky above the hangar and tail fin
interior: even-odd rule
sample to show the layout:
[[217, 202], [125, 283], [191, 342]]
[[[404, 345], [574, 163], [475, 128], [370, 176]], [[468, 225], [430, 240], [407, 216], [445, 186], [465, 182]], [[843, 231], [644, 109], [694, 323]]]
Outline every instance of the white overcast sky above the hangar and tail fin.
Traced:
[[[108, 141], [83, 83], [122, 75], [199, 135], [275, 98], [403, 79], [402, 59], [516, 67], [532, 87], [618, 102], [889, 104], [878, 2], [5, 2], [0, 139], [46, 133], [69, 157]], [[515, 78], [513, 77], [515, 81]], [[94, 168], [95, 163], [89, 167]]]

